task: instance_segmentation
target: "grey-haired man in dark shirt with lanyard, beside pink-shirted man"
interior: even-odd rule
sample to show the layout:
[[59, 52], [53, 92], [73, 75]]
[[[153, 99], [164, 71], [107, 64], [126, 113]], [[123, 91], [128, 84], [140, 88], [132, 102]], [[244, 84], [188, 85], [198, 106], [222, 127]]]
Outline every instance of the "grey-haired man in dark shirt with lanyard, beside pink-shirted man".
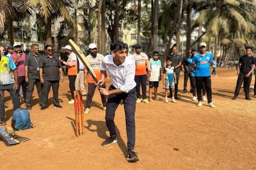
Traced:
[[43, 84], [39, 79], [39, 62], [43, 56], [38, 54], [38, 44], [31, 45], [31, 52], [25, 58], [25, 81], [28, 83], [27, 95], [26, 95], [26, 106], [28, 110], [31, 110], [32, 103], [31, 97], [33, 95], [34, 86], [36, 84], [36, 90], [39, 97], [39, 105], [41, 106]]

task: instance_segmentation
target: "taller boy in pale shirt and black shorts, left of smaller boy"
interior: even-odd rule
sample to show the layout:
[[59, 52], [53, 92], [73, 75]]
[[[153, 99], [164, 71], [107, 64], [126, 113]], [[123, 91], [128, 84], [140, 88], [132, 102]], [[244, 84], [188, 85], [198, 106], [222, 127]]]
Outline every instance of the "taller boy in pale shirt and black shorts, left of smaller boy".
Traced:
[[157, 88], [159, 81], [161, 81], [161, 69], [162, 69], [162, 64], [161, 61], [158, 60], [158, 52], [153, 53], [153, 58], [150, 58], [149, 64], [150, 64], [150, 78], [149, 78], [149, 101], [154, 101], [152, 99], [152, 91], [154, 87], [154, 95], [155, 95], [155, 100], [158, 100], [157, 98]]

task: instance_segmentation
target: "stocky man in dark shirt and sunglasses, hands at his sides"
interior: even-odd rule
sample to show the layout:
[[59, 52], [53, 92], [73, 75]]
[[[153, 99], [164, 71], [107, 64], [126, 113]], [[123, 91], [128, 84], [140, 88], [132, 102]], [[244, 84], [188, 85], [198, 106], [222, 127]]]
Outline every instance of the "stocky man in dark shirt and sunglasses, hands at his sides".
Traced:
[[53, 48], [51, 45], [45, 46], [46, 55], [39, 63], [39, 77], [40, 82], [44, 84], [42, 94], [41, 111], [46, 109], [48, 103], [48, 96], [52, 86], [53, 91], [53, 106], [54, 108], [62, 108], [58, 97], [60, 75], [61, 82], [63, 82], [62, 65], [59, 58], [53, 55]]

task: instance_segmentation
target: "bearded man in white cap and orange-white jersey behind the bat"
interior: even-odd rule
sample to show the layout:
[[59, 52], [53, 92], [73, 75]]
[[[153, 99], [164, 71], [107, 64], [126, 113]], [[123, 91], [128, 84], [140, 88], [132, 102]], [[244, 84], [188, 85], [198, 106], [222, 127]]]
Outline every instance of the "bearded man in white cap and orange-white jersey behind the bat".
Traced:
[[[86, 56], [87, 61], [90, 63], [90, 65], [92, 66], [92, 69], [97, 77], [98, 80], [101, 79], [101, 72], [100, 72], [100, 64], [103, 60], [103, 55], [97, 53], [98, 52], [98, 48], [96, 46], [96, 44], [91, 43], [89, 45], [89, 52], [90, 54], [88, 56]], [[84, 84], [86, 85], [86, 77], [87, 77], [87, 69], [86, 67], [84, 67]], [[109, 79], [109, 76], [108, 78]], [[91, 103], [92, 103], [92, 98], [96, 89], [96, 85], [95, 85], [95, 81], [93, 80], [93, 78], [91, 77], [91, 75], [89, 74], [89, 80], [88, 80], [88, 93], [87, 93], [87, 97], [86, 97], [86, 109], [84, 111], [84, 114], [89, 114], [90, 109], [91, 109]], [[102, 88], [106, 88], [106, 83], [102, 84]], [[100, 95], [101, 96], [101, 101], [103, 104], [103, 111], [106, 111], [106, 106], [107, 106], [107, 96], [105, 95]]]

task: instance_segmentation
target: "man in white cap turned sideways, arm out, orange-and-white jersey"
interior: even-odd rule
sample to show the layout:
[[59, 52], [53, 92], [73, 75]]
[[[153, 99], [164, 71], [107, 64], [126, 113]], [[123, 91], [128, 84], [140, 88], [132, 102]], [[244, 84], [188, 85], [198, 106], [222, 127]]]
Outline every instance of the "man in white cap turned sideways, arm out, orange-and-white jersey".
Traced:
[[63, 47], [63, 49], [65, 49], [65, 53], [68, 55], [68, 61], [65, 62], [60, 59], [60, 62], [68, 66], [69, 89], [72, 95], [72, 99], [68, 101], [68, 104], [74, 104], [74, 91], [76, 91], [75, 82], [77, 75], [76, 54], [73, 52], [70, 45]]

